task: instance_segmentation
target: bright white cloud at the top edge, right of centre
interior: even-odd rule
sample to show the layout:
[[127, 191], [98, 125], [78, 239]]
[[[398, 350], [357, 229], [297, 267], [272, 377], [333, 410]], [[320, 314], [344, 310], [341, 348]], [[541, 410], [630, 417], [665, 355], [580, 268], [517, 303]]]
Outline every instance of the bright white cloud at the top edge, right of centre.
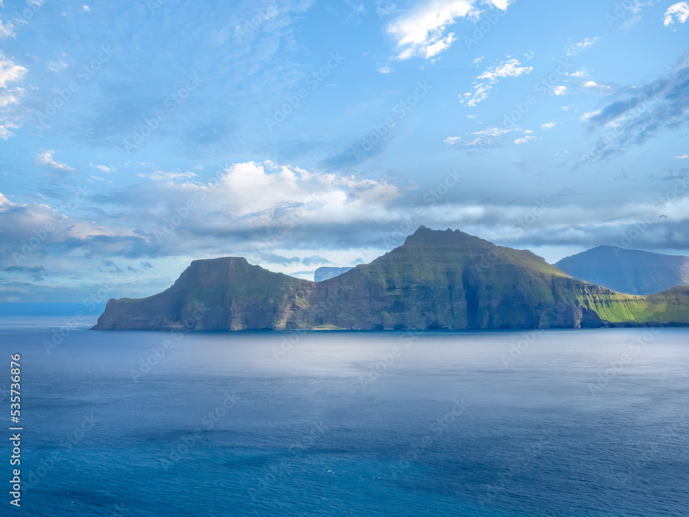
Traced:
[[[484, 0], [506, 10], [512, 0]], [[431, 59], [455, 41], [448, 29], [462, 18], [477, 19], [481, 11], [473, 6], [476, 0], [427, 0], [407, 10], [389, 23], [387, 33], [395, 40], [398, 59], [423, 56]]]

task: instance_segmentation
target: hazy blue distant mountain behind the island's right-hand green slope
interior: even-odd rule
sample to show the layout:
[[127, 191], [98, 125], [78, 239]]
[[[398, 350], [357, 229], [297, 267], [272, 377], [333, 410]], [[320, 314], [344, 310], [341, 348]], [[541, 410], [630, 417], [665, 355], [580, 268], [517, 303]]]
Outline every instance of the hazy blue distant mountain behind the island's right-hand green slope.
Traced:
[[653, 294], [689, 285], [689, 257], [598, 246], [555, 263], [580, 280], [627, 294]]

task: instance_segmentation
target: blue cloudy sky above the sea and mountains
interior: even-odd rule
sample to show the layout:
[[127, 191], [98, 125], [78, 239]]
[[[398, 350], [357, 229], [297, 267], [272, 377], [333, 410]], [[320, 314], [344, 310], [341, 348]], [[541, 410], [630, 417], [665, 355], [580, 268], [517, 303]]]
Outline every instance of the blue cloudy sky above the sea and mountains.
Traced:
[[689, 255], [689, 2], [0, 0], [0, 301], [419, 225]]

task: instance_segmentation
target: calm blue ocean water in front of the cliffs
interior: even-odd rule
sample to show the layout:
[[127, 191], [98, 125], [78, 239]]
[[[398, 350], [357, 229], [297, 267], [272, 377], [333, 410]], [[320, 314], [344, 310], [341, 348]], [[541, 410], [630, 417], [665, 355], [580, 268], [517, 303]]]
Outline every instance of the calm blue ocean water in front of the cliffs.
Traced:
[[1, 515], [689, 516], [686, 329], [92, 323], [0, 318]]

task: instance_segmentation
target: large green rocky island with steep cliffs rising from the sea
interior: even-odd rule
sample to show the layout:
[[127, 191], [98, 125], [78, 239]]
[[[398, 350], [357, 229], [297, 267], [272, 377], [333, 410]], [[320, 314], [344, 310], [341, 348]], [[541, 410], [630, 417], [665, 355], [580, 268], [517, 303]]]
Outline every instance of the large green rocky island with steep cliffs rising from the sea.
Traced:
[[194, 261], [169, 289], [110, 299], [94, 330], [508, 329], [689, 323], [689, 287], [630, 296], [526, 250], [422, 226], [404, 244], [311, 282], [240, 257]]

